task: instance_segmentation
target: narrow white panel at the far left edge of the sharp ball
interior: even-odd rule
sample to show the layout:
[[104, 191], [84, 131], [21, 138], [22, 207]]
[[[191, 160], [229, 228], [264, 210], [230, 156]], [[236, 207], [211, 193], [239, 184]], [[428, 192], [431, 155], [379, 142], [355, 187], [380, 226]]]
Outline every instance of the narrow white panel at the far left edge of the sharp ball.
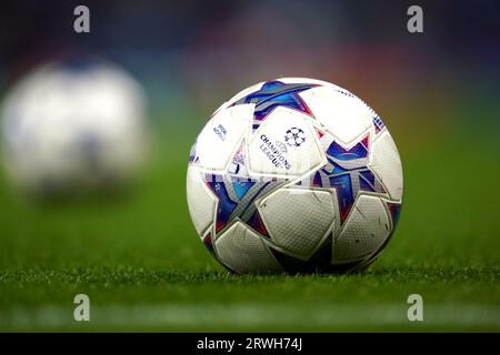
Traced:
[[209, 191], [198, 168], [188, 168], [188, 207], [198, 235], [211, 225], [216, 213], [216, 196]]

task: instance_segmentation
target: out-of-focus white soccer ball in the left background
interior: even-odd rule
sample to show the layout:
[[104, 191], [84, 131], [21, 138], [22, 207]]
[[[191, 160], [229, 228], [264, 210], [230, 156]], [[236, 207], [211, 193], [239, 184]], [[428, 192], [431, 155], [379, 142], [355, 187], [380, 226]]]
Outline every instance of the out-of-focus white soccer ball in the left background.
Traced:
[[72, 59], [39, 67], [3, 102], [3, 156], [12, 181], [51, 194], [116, 186], [143, 156], [146, 95], [116, 64]]

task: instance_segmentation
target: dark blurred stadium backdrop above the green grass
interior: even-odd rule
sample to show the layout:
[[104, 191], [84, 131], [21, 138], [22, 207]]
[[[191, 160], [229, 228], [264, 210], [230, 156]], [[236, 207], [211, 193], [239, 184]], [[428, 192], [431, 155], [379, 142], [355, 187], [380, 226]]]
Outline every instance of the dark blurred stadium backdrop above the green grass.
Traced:
[[86, 1], [91, 32], [77, 34], [79, 1], [4, 1], [0, 85], [48, 59], [92, 53], [144, 84], [153, 120], [193, 133], [233, 93], [281, 75], [357, 93], [403, 150], [457, 121], [498, 129], [499, 2], [419, 1], [424, 32], [412, 34], [413, 2]]

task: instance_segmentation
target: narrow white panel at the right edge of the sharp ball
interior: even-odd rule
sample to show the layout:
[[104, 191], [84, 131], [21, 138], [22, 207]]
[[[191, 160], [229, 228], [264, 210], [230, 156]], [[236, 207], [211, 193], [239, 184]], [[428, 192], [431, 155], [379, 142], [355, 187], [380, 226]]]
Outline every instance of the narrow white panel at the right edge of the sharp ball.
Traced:
[[391, 199], [401, 201], [403, 191], [401, 160], [388, 131], [378, 134], [372, 143], [370, 168], [382, 181]]

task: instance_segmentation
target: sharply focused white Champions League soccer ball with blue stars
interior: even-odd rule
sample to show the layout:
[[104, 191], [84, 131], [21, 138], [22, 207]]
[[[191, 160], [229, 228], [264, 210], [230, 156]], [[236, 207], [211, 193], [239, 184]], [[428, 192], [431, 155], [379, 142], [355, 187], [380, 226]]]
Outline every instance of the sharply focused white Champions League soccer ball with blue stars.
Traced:
[[402, 192], [380, 116], [346, 89], [303, 78], [223, 103], [187, 176], [198, 234], [237, 273], [364, 270], [394, 231]]

